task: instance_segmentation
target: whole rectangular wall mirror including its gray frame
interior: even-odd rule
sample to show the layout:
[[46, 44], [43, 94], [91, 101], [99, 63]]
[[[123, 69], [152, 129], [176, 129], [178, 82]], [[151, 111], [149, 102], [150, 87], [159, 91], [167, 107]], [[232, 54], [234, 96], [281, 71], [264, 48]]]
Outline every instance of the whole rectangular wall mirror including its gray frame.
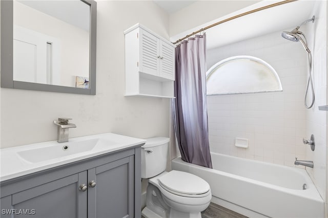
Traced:
[[96, 94], [96, 2], [1, 1], [1, 87]]

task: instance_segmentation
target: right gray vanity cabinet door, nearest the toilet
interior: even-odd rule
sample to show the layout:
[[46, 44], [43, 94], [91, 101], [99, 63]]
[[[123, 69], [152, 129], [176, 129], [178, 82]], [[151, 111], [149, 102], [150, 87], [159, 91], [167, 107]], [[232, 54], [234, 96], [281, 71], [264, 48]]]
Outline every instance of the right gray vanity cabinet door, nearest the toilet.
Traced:
[[134, 217], [134, 156], [88, 170], [88, 217]]

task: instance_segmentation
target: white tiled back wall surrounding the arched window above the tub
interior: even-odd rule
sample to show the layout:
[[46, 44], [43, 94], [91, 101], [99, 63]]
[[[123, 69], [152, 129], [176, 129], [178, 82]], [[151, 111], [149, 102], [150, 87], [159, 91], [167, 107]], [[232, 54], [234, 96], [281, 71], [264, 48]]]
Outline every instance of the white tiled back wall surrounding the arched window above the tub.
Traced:
[[[283, 91], [208, 96], [211, 151], [295, 166], [295, 157], [305, 159], [302, 138], [308, 138], [303, 105], [305, 50], [301, 43], [283, 39], [279, 31], [208, 50], [208, 69], [235, 55], [251, 55], [271, 64]], [[236, 147], [235, 138], [248, 139], [249, 147]]]

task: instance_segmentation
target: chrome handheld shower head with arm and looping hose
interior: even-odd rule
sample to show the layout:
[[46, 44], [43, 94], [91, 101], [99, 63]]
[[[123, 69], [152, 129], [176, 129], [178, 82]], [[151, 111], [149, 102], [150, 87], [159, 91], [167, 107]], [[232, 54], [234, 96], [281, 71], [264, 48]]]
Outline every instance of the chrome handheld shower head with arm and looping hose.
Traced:
[[[308, 52], [308, 61], [309, 61], [309, 79], [308, 79], [308, 84], [306, 85], [306, 91], [305, 91], [305, 97], [304, 97], [304, 105], [306, 108], [311, 108], [314, 104], [314, 88], [313, 88], [313, 81], [312, 81], [312, 54], [311, 51], [308, 47], [308, 42], [306, 42], [306, 37], [305, 35], [299, 31], [298, 29], [306, 23], [309, 23], [310, 21], [312, 21], [312, 23], [314, 23], [314, 19], [315, 17], [313, 16], [311, 19], [307, 19], [305, 20], [302, 24], [300, 24], [299, 26], [297, 26], [294, 30], [288, 32], [288, 31], [284, 31], [281, 33], [281, 36], [285, 39], [291, 40], [291, 41], [299, 41], [301, 42], [303, 48], [305, 49], [306, 52]], [[301, 37], [303, 36], [303, 38]], [[311, 91], [312, 91], [312, 103], [310, 106], [308, 106], [308, 104], [306, 103], [306, 97], [308, 96], [308, 92], [309, 92], [309, 84], [311, 85]]]

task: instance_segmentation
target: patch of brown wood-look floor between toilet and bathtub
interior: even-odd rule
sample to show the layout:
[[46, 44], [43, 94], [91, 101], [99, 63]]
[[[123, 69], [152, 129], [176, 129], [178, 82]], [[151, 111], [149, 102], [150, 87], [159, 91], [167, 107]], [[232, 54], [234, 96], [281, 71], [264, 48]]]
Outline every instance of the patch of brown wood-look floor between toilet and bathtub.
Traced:
[[201, 212], [202, 218], [248, 218], [227, 208], [211, 202], [210, 206]]

